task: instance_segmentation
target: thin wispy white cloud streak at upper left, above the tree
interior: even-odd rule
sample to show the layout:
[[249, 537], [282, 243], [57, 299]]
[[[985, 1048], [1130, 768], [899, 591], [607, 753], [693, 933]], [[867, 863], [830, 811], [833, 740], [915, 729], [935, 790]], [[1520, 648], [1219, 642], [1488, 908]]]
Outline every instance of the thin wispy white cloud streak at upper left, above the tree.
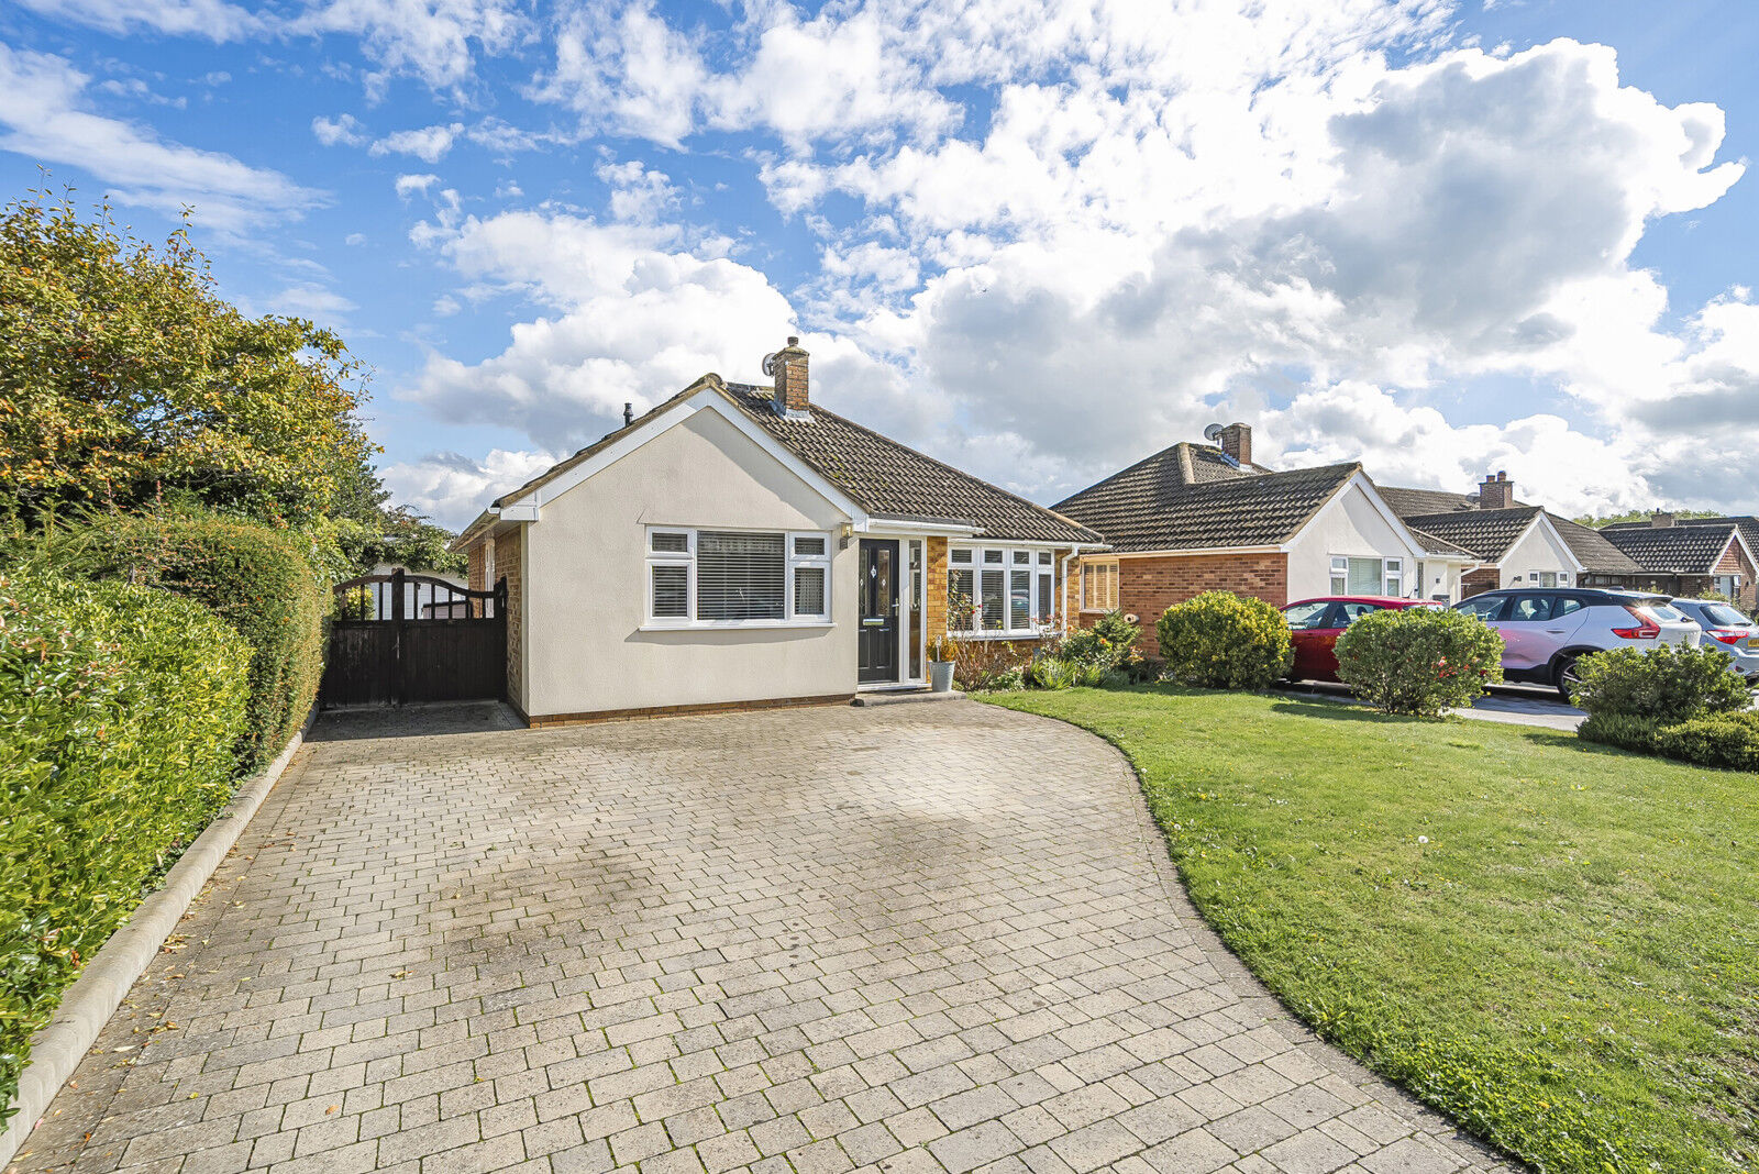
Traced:
[[278, 170], [160, 139], [151, 128], [91, 112], [90, 77], [63, 58], [0, 44], [0, 149], [91, 172], [121, 204], [176, 216], [195, 209], [202, 227], [236, 234], [271, 220], [297, 220], [329, 197]]

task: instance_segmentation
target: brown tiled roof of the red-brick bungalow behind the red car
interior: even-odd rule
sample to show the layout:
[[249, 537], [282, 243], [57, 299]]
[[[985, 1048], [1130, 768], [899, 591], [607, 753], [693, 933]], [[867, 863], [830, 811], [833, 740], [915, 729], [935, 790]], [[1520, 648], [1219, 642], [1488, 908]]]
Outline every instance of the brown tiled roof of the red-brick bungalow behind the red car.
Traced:
[[1173, 445], [1057, 503], [1113, 550], [1274, 547], [1295, 534], [1360, 464], [1203, 480], [1186, 464], [1198, 445]]

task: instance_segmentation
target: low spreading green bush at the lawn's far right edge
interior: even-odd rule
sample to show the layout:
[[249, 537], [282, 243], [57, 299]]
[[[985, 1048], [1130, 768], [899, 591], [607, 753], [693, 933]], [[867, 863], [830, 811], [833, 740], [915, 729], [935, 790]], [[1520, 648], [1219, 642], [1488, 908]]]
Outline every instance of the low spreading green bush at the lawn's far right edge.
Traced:
[[1571, 699], [1595, 715], [1631, 714], [1668, 724], [1743, 710], [1752, 699], [1720, 645], [1594, 652], [1576, 663], [1576, 671], [1581, 684]]

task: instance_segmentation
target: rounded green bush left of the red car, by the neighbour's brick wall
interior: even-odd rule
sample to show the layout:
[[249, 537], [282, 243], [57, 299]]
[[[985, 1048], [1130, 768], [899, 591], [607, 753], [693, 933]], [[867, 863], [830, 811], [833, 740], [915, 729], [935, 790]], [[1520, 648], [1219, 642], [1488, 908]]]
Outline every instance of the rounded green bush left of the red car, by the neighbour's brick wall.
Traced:
[[1166, 677], [1182, 685], [1265, 689], [1295, 661], [1282, 612], [1230, 591], [1175, 603], [1156, 631]]

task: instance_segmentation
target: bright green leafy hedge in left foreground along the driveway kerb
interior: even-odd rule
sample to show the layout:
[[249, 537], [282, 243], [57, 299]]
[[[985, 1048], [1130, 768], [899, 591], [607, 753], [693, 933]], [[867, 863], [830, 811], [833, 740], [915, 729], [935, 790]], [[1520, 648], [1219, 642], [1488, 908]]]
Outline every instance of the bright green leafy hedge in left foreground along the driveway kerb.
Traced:
[[248, 664], [190, 599], [0, 575], [0, 1120], [62, 989], [229, 798]]

